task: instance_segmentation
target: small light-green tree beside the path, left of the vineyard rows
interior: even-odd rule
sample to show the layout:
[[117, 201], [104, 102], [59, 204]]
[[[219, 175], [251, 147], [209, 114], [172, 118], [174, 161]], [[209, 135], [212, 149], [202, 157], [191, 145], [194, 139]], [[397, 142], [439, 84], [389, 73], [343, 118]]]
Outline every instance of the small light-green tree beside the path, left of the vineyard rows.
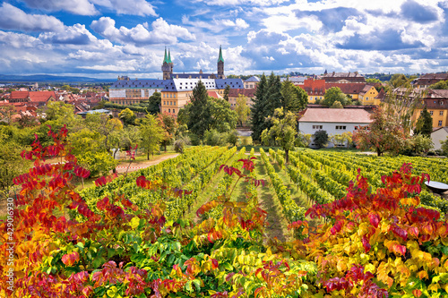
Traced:
[[140, 127], [140, 137], [142, 138], [142, 147], [146, 151], [146, 157], [149, 160], [150, 154], [159, 149], [159, 143], [163, 140], [164, 131], [158, 119], [151, 114], [142, 118]]

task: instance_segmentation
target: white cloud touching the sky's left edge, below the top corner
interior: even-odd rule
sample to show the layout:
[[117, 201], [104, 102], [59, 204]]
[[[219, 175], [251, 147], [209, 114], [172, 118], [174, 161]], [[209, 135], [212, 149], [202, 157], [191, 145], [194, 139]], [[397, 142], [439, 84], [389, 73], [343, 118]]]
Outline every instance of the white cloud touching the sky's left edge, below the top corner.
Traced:
[[0, 29], [20, 31], [55, 31], [64, 28], [62, 21], [45, 14], [28, 14], [11, 4], [0, 7]]

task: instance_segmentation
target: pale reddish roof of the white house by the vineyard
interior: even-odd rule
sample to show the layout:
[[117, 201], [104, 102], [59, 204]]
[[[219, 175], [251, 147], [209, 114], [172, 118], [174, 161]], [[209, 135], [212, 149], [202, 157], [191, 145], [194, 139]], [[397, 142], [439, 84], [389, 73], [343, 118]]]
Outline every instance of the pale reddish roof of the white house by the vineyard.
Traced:
[[308, 108], [299, 122], [316, 123], [371, 123], [365, 109]]

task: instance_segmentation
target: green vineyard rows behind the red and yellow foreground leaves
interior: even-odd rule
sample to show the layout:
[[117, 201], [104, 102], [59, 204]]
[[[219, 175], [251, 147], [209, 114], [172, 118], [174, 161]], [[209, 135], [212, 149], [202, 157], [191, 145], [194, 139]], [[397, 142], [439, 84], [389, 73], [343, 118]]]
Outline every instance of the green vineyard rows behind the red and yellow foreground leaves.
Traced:
[[[269, 214], [266, 233], [268, 237], [285, 241], [292, 236], [287, 226], [305, 219], [306, 209], [314, 203], [341, 199], [347, 193], [349, 181], [356, 180], [358, 169], [371, 183], [373, 192], [382, 187], [383, 175], [392, 175], [403, 163], [412, 164], [413, 174], [427, 173], [432, 180], [448, 183], [448, 160], [444, 158], [376, 157], [355, 152], [298, 149], [290, 153], [290, 163], [286, 166], [282, 150], [259, 150], [261, 154], [255, 156], [254, 149], [247, 152], [246, 148], [194, 147], [177, 158], [121, 176], [106, 186], [85, 189], [81, 194], [93, 210], [99, 200], [113, 193], [125, 194], [140, 208], [166, 198], [162, 190], [148, 192], [137, 187], [135, 179], [143, 175], [150, 181], [163, 181], [173, 188], [192, 192], [182, 199], [163, 200], [169, 219], [180, 217], [198, 221], [196, 210], [208, 201], [224, 195], [232, 201], [245, 200], [246, 183], [238, 183], [231, 192], [237, 177], [228, 177], [219, 168], [224, 164], [242, 166], [239, 159], [255, 157], [253, 175], [267, 183], [258, 189], [258, 200]], [[423, 190], [420, 198], [426, 208], [443, 214], [448, 211], [448, 202], [440, 196]]]

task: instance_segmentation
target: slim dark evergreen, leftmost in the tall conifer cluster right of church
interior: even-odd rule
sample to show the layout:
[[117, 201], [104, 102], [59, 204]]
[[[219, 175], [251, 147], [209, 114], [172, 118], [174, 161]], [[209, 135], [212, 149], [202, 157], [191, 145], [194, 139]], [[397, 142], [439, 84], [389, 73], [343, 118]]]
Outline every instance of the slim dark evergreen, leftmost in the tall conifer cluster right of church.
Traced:
[[252, 122], [252, 139], [262, 140], [263, 124], [264, 124], [264, 105], [265, 105], [265, 92], [267, 86], [266, 75], [262, 75], [260, 83], [255, 90], [255, 97], [252, 99], [254, 105], [251, 107], [251, 122]]

